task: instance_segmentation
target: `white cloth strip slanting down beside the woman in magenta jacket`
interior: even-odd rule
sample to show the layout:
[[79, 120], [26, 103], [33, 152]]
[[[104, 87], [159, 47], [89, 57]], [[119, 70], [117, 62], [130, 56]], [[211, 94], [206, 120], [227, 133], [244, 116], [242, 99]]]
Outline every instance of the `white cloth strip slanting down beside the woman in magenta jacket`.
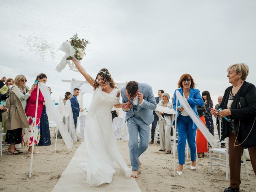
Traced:
[[61, 117], [60, 112], [55, 107], [55, 104], [52, 101], [48, 86], [44, 83], [38, 83], [38, 87], [40, 88], [40, 91], [42, 92], [42, 94], [44, 96], [45, 106], [46, 106], [48, 112], [50, 112], [53, 120], [56, 122], [58, 130], [60, 131], [60, 134], [66, 144], [66, 147], [68, 149], [72, 148], [73, 140], [70, 137], [68, 130], [66, 129], [64, 123], [62, 122], [62, 117]]

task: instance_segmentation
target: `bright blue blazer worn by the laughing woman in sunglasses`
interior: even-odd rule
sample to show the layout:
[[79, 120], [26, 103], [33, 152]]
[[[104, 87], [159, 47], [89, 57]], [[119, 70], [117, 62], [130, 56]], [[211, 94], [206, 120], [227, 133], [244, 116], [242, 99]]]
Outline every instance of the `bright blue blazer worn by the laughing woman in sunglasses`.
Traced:
[[[180, 89], [176, 89], [180, 92], [180, 94], [183, 96], [183, 91], [182, 91], [182, 88]], [[173, 108], [174, 110], [176, 110], [176, 90], [174, 92], [174, 99], [173, 99]], [[204, 104], [204, 100], [200, 94], [200, 91], [198, 89], [193, 89], [193, 88], [190, 88], [190, 91], [189, 91], [189, 96], [187, 98], [187, 101], [188, 101], [188, 104], [190, 105], [190, 107], [192, 108], [192, 110], [196, 113], [196, 115], [198, 116], [198, 112], [197, 112], [197, 109], [196, 109], [196, 106], [199, 105], [199, 106], [202, 106]], [[178, 101], [178, 106], [180, 105], [180, 102]], [[177, 118], [178, 116], [180, 115], [180, 111], [178, 111], [178, 114], [177, 114]], [[193, 123], [193, 129], [196, 128], [196, 124]]]

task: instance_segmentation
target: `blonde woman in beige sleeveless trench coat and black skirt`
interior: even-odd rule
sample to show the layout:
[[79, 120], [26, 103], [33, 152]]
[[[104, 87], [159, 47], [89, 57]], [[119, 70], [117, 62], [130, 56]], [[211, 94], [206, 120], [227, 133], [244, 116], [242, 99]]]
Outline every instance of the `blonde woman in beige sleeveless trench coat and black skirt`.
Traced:
[[22, 128], [27, 128], [28, 120], [25, 114], [25, 109], [27, 105], [27, 99], [30, 94], [36, 88], [33, 84], [29, 90], [26, 86], [26, 77], [24, 75], [17, 75], [14, 79], [14, 84], [12, 86], [12, 92], [9, 98], [6, 100], [6, 108], [8, 112], [4, 116], [6, 120], [7, 132], [5, 142], [10, 144], [10, 149], [8, 154], [18, 155], [22, 152], [15, 148], [15, 144], [20, 144]]

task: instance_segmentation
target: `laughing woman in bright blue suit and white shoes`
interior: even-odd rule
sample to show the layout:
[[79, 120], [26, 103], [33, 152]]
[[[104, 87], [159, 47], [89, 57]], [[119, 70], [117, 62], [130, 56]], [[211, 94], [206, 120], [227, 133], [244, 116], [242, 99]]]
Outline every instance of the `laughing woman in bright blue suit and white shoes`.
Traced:
[[[190, 107], [198, 115], [196, 106], [202, 106], [204, 100], [198, 89], [195, 89], [194, 79], [190, 74], [183, 74], [178, 82], [177, 91], [186, 98]], [[173, 101], [174, 110], [176, 109], [176, 90], [174, 92]], [[178, 159], [179, 168], [177, 173], [181, 175], [183, 173], [183, 164], [185, 164], [185, 146], [186, 140], [188, 140], [188, 146], [191, 154], [191, 166], [192, 170], [196, 169], [196, 124], [192, 121], [188, 113], [184, 110], [178, 102], [178, 114], [177, 114], [177, 130], [178, 130]]]

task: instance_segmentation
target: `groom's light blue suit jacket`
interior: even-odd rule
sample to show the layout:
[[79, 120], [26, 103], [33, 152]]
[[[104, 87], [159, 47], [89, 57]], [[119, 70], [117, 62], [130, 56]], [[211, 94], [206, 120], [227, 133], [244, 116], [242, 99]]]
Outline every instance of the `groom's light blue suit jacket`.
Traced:
[[[139, 90], [143, 94], [144, 102], [142, 106], [140, 106], [139, 101], [137, 105], [137, 109], [134, 109], [134, 105], [130, 110], [126, 111], [125, 121], [128, 118], [134, 116], [135, 114], [139, 116], [147, 125], [150, 125], [154, 120], [153, 111], [156, 109], [156, 99], [154, 98], [154, 94], [150, 85], [146, 83], [139, 83]], [[125, 95], [125, 87], [121, 89], [122, 103], [128, 102], [128, 98]], [[133, 104], [132, 100], [130, 102]]]

